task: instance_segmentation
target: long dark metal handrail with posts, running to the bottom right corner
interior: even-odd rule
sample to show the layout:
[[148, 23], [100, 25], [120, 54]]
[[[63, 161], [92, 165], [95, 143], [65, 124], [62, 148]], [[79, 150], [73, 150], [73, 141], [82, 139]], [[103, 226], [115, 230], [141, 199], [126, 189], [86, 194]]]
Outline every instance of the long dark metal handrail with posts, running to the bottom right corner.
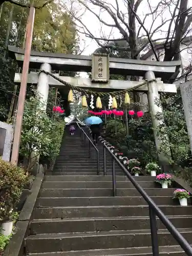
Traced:
[[[102, 137], [101, 140], [105, 141]], [[102, 141], [101, 141], [102, 142]], [[157, 221], [156, 216], [161, 220], [165, 225], [168, 231], [176, 239], [179, 245], [183, 248], [187, 255], [192, 256], [192, 248], [190, 244], [185, 240], [182, 234], [176, 229], [176, 227], [170, 222], [167, 217], [163, 214], [161, 209], [156, 205], [156, 203], [147, 195], [145, 190], [139, 185], [139, 183], [132, 177], [124, 165], [119, 161], [119, 159], [109, 150], [105, 145], [105, 142], [102, 143], [103, 148], [107, 150], [112, 157], [112, 175], [113, 175], [113, 196], [116, 196], [116, 178], [115, 178], [115, 162], [122, 168], [126, 177], [132, 182], [137, 191], [141, 194], [144, 200], [147, 202], [150, 211], [150, 225], [151, 225], [151, 238], [152, 238], [152, 249], [153, 256], [159, 256], [159, 246], [158, 246], [158, 234], [157, 234]], [[103, 151], [104, 152], [104, 151]], [[103, 159], [106, 159], [103, 157]], [[103, 163], [106, 166], [106, 163]]]

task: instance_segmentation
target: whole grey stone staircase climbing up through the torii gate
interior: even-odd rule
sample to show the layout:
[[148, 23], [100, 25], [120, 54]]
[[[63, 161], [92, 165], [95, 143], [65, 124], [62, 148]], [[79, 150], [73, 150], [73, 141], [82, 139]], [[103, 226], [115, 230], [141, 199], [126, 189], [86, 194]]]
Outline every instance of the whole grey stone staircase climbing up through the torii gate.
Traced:
[[[100, 148], [100, 147], [99, 147]], [[34, 209], [30, 256], [153, 255], [148, 206], [117, 167], [117, 197], [112, 197], [111, 158], [108, 175], [96, 176], [96, 154], [88, 158], [79, 136], [66, 136], [52, 176], [45, 176]], [[164, 214], [192, 243], [192, 207], [179, 206], [174, 188], [162, 189], [154, 177], [135, 177]], [[158, 220], [160, 255], [186, 255]]]

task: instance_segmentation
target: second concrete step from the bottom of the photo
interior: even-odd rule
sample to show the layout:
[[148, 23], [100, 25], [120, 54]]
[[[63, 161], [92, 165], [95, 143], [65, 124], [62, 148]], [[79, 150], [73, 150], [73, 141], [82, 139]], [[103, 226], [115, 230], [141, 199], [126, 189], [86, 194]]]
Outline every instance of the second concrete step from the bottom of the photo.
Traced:
[[[192, 243], [192, 229], [179, 229], [183, 237]], [[177, 245], [166, 229], [158, 231], [159, 246]], [[26, 239], [29, 253], [110, 249], [151, 246], [151, 230], [126, 230], [90, 233], [36, 234]]]

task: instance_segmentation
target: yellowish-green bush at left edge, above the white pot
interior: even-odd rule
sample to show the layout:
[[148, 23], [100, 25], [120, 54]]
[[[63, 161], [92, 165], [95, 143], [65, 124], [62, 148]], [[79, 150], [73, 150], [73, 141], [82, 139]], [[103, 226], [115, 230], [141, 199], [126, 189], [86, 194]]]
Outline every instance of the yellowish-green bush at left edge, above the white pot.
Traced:
[[27, 182], [23, 168], [0, 159], [0, 221], [10, 219]]

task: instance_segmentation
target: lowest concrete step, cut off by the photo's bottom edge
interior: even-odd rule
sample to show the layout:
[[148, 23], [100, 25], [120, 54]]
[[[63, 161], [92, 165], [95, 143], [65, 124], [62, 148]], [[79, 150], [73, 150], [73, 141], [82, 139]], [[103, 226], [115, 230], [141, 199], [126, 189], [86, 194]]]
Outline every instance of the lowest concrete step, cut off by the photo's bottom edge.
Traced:
[[[159, 246], [160, 256], [186, 256], [180, 246]], [[48, 253], [31, 253], [29, 256], [153, 256], [151, 247], [99, 249], [86, 251], [58, 251]]]

